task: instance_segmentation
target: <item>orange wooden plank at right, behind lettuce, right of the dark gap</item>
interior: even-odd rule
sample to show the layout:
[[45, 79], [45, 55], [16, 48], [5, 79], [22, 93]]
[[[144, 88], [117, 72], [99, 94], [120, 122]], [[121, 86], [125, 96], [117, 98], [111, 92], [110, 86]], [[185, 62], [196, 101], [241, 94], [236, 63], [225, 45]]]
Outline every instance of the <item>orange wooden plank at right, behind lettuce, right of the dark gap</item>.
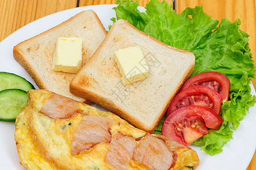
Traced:
[[[186, 7], [195, 7], [203, 5], [203, 11], [212, 18], [221, 21], [223, 18], [228, 18], [234, 22], [237, 18], [241, 20], [240, 29], [249, 33], [249, 45], [253, 59], [256, 61], [256, 3], [255, 0], [178, 0], [175, 1], [175, 9], [178, 14]], [[254, 88], [256, 90], [256, 79], [252, 79]], [[256, 152], [253, 159], [246, 170], [256, 169]]]

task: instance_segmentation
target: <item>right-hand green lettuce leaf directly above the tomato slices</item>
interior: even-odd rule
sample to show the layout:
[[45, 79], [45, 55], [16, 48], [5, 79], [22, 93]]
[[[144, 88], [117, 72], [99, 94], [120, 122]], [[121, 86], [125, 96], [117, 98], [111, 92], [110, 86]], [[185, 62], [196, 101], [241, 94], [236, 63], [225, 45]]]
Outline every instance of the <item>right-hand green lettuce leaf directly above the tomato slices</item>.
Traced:
[[239, 25], [239, 19], [234, 23], [223, 19], [219, 28], [191, 51], [196, 57], [195, 69], [191, 76], [205, 71], [219, 71], [228, 76], [232, 87], [230, 91], [244, 90], [241, 86], [234, 88], [234, 85], [240, 82], [243, 74], [255, 78], [256, 68], [250, 49], [247, 48], [247, 35], [242, 35]]

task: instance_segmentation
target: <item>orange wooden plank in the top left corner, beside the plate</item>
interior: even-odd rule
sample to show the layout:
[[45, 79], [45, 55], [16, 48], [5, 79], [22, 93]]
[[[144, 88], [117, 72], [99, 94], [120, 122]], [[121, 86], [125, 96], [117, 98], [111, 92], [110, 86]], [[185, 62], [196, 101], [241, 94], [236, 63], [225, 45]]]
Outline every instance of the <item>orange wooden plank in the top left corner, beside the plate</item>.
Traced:
[[77, 0], [0, 0], [0, 41], [32, 21], [77, 7]]

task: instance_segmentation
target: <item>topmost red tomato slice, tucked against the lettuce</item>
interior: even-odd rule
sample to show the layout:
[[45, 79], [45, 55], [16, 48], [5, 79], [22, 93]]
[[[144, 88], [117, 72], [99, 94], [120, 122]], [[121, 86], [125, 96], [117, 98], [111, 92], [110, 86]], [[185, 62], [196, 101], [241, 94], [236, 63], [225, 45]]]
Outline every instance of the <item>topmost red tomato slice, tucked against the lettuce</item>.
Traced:
[[218, 92], [223, 101], [227, 101], [229, 97], [230, 81], [222, 73], [217, 71], [207, 71], [196, 74], [184, 83], [182, 90], [191, 86], [208, 86]]

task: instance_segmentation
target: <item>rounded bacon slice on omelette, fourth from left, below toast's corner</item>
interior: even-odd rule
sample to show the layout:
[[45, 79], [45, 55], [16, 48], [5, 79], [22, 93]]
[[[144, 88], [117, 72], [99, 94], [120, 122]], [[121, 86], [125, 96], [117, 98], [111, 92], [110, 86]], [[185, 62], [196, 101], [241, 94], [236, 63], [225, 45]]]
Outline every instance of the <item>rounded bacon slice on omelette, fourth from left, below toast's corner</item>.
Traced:
[[163, 139], [146, 135], [135, 148], [133, 159], [150, 169], [164, 170], [171, 167], [173, 152], [170, 152]]

